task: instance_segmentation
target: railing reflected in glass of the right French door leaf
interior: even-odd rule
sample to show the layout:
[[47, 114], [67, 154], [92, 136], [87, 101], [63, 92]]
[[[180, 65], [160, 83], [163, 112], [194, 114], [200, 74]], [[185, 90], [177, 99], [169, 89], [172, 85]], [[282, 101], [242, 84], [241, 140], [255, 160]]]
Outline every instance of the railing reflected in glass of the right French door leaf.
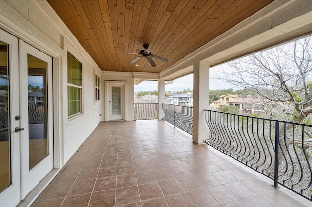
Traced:
[[44, 123], [43, 103], [28, 103], [28, 123]]

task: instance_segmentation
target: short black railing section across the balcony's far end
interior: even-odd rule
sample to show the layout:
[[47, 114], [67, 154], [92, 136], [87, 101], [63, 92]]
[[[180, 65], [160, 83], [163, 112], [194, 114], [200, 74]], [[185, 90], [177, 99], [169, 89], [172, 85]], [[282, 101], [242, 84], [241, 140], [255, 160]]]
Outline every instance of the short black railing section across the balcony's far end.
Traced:
[[158, 119], [158, 103], [137, 103], [133, 105], [136, 120]]

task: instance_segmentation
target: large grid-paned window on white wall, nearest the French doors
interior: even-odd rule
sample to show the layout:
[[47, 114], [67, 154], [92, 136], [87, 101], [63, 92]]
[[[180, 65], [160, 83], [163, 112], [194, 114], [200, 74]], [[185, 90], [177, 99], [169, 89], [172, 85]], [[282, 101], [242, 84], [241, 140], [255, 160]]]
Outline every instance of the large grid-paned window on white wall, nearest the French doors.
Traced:
[[68, 117], [82, 113], [82, 64], [67, 52]]

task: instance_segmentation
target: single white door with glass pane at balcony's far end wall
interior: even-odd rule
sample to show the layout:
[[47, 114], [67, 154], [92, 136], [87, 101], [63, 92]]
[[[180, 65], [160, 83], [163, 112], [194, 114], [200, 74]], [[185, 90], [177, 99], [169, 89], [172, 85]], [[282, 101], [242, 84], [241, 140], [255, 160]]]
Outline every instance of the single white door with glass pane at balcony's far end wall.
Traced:
[[123, 85], [109, 85], [109, 120], [123, 119]]

